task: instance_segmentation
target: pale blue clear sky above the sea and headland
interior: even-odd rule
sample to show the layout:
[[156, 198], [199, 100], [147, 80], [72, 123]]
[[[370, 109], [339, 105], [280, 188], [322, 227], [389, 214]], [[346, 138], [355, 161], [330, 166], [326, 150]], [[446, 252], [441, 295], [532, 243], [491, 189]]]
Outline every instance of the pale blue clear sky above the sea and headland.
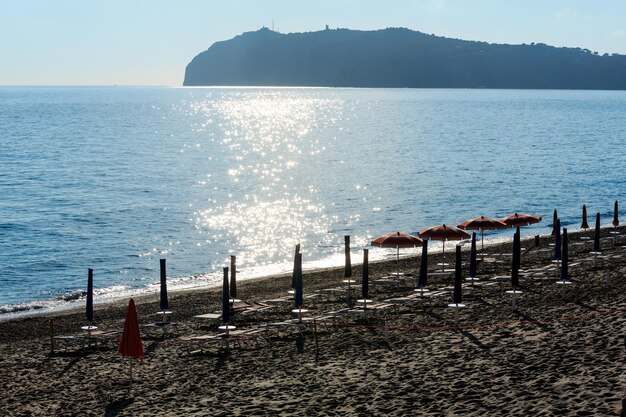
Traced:
[[0, 85], [178, 86], [214, 42], [272, 24], [626, 54], [625, 17], [624, 0], [0, 0]]

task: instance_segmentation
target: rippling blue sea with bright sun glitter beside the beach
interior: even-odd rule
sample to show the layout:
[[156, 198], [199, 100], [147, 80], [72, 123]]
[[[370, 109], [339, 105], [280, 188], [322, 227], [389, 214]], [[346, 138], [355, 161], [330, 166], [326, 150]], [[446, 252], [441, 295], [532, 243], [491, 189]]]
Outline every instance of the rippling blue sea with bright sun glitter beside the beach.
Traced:
[[175, 291], [231, 255], [289, 272], [297, 243], [306, 280], [346, 235], [356, 263], [479, 216], [608, 224], [625, 143], [624, 91], [0, 87], [0, 317], [84, 303], [88, 268], [105, 302], [156, 293], [161, 258]]

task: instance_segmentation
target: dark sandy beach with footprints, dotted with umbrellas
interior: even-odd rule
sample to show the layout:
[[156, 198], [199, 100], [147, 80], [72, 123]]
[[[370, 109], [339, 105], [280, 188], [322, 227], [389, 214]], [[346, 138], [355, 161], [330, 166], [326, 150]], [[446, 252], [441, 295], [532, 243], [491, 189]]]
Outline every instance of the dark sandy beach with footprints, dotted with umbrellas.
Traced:
[[[525, 240], [517, 310], [505, 293], [511, 245], [488, 247], [488, 260], [501, 262], [485, 266], [473, 288], [466, 282], [458, 326], [447, 307], [449, 276], [431, 278], [424, 299], [413, 297], [415, 276], [372, 285], [377, 302], [411, 297], [367, 316], [344, 312], [324, 320], [354, 306], [360, 293], [320, 295], [345, 286], [343, 268], [305, 271], [304, 307], [319, 322], [268, 326], [293, 318], [289, 304], [236, 314], [239, 329], [262, 332], [227, 350], [192, 340], [218, 333], [218, 321], [199, 327], [192, 316], [219, 310], [219, 290], [171, 293], [179, 335], [145, 334], [145, 362], [134, 367], [132, 391], [129, 360], [117, 353], [115, 336], [97, 349], [59, 341], [51, 353], [49, 319], [55, 334], [75, 334], [86, 324], [82, 310], [0, 322], [0, 415], [619, 415], [626, 389], [626, 230], [617, 237], [609, 231], [603, 229], [597, 259], [580, 233], [570, 234], [570, 285], [556, 284], [551, 239], [539, 247]], [[352, 259], [361, 256], [354, 251]], [[433, 271], [440, 258], [429, 256]], [[375, 263], [370, 279], [418, 268], [418, 257]], [[360, 266], [353, 277], [360, 282]], [[241, 282], [238, 298], [284, 296], [290, 279]], [[153, 323], [156, 298], [136, 303], [140, 323]], [[97, 305], [97, 326], [121, 330], [125, 308], [126, 302]]]

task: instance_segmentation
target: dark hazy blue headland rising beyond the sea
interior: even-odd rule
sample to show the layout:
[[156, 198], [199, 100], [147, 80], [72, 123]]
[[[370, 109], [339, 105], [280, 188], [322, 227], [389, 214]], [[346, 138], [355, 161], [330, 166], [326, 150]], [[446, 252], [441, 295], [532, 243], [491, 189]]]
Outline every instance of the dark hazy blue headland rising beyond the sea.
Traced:
[[289, 34], [263, 28], [198, 54], [183, 85], [624, 90], [626, 55], [402, 28]]

